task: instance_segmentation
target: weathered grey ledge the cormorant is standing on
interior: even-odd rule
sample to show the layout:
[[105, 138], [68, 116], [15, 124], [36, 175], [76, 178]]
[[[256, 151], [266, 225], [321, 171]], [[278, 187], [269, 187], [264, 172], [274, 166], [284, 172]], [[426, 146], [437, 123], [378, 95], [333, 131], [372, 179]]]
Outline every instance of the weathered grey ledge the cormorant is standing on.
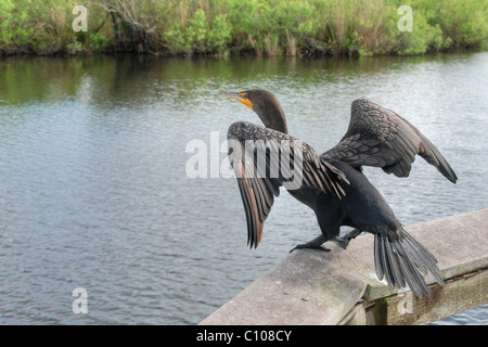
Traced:
[[[488, 268], [488, 208], [406, 229], [437, 257], [445, 280], [478, 271], [480, 284], [475, 295], [479, 298], [474, 301], [476, 306], [488, 301], [484, 275]], [[376, 279], [373, 235], [358, 236], [346, 250], [332, 243], [328, 247], [332, 249], [329, 253], [295, 250], [201, 324], [338, 324], [351, 311], [364, 312], [364, 304], [358, 310], [360, 299], [372, 303], [404, 293]], [[427, 283], [434, 280], [427, 278]], [[436, 292], [442, 293], [438, 287]], [[444, 296], [454, 295], [448, 292]]]

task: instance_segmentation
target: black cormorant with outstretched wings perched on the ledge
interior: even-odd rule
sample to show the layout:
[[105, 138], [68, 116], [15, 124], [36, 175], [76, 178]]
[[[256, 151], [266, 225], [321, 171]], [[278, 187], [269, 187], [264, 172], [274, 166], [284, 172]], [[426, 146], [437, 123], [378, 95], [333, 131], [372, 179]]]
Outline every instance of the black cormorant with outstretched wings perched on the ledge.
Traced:
[[[244, 204], [251, 247], [257, 247], [261, 241], [265, 220], [280, 187], [287, 188], [291, 177], [298, 177], [292, 172], [293, 165], [284, 165], [282, 154], [287, 153], [292, 160], [299, 158], [293, 169], [301, 169], [300, 184], [287, 191], [313, 209], [321, 230], [319, 236], [292, 250], [321, 248], [326, 241], [346, 248], [351, 239], [365, 231], [374, 234], [374, 264], [380, 280], [386, 277], [391, 286], [398, 287], [408, 284], [419, 297], [429, 295], [423, 278], [427, 272], [444, 285], [434, 255], [407, 233], [385, 198], [362, 174], [362, 166], [374, 166], [408, 177], [419, 154], [455, 183], [458, 178], [450, 165], [420, 130], [395, 112], [359, 99], [352, 102], [346, 134], [319, 155], [287, 133], [283, 108], [270, 91], [222, 91], [219, 95], [242, 102], [265, 125], [237, 121], [228, 132], [229, 158]], [[256, 143], [253, 149], [264, 150], [265, 157], [246, 152], [249, 141]], [[258, 175], [260, 164], [265, 175]], [[273, 167], [280, 167], [279, 175], [270, 175]], [[355, 229], [341, 237], [342, 226]]]

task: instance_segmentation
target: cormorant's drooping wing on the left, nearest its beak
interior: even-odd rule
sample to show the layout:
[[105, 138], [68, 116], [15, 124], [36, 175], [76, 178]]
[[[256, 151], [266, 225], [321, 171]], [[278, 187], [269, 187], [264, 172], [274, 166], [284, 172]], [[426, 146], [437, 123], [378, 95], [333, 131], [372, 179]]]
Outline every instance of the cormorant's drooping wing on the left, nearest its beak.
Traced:
[[237, 178], [247, 220], [247, 244], [257, 247], [265, 220], [287, 190], [312, 188], [341, 198], [345, 175], [321, 158], [312, 147], [286, 133], [237, 121], [228, 132], [229, 160]]

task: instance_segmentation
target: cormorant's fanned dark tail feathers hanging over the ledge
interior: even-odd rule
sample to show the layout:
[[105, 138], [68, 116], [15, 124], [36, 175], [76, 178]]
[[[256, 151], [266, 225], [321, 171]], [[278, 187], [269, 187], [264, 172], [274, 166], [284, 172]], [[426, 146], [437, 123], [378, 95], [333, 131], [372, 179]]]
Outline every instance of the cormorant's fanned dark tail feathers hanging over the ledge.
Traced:
[[403, 229], [374, 235], [374, 266], [380, 280], [386, 278], [389, 285], [397, 287], [407, 283], [418, 297], [431, 295], [424, 280], [427, 272], [444, 285], [437, 259]]

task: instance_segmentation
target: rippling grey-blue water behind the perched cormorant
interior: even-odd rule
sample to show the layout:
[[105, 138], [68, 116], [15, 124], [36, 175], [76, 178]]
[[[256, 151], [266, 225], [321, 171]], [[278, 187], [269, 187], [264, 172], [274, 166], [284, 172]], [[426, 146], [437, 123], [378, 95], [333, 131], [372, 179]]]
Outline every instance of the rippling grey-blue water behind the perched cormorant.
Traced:
[[[235, 180], [185, 175], [191, 140], [220, 162], [210, 138], [258, 121], [218, 99], [222, 89], [274, 91], [290, 132], [318, 152], [344, 134], [354, 99], [376, 101], [422, 129], [460, 178], [422, 159], [409, 179], [367, 169], [403, 224], [488, 207], [487, 77], [487, 52], [0, 61], [0, 323], [195, 324], [317, 235], [313, 214], [282, 194], [249, 250]], [[77, 287], [86, 314], [73, 312]], [[487, 307], [439, 324], [466, 322], [488, 323]]]

